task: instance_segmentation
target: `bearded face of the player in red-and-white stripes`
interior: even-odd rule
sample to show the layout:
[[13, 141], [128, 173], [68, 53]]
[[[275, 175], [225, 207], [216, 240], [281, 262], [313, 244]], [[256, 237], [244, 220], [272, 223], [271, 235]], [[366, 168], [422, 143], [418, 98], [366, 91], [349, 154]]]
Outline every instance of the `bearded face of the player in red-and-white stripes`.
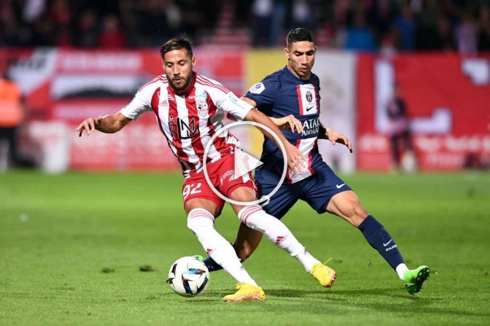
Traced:
[[163, 56], [163, 69], [170, 85], [176, 93], [187, 90], [192, 81], [192, 68], [196, 64], [196, 57], [192, 58], [185, 48], [172, 50]]

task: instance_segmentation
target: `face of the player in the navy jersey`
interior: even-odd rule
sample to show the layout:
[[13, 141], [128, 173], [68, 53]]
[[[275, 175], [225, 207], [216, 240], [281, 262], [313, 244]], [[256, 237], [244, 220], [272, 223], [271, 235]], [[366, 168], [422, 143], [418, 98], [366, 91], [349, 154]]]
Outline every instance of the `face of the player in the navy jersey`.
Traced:
[[308, 41], [294, 42], [284, 49], [291, 69], [300, 79], [310, 78], [316, 52], [317, 47], [314, 46], [313, 42]]

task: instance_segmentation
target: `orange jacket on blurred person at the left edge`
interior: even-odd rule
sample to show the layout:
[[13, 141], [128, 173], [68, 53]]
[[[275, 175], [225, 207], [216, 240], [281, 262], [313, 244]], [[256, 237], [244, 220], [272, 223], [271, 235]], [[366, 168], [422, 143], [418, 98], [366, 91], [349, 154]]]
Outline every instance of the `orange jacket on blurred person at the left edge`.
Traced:
[[0, 127], [16, 127], [23, 119], [21, 91], [15, 83], [0, 79]]

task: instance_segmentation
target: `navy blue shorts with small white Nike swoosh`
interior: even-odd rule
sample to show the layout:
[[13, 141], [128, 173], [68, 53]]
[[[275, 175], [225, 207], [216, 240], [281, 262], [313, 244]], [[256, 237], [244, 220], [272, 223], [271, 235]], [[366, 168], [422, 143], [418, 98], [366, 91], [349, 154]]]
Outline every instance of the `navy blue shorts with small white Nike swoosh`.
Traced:
[[[260, 180], [255, 183], [259, 198], [269, 194], [276, 186], [263, 184]], [[263, 208], [268, 214], [281, 219], [301, 199], [321, 214], [327, 211], [327, 205], [334, 195], [346, 190], [352, 189], [335, 175], [327, 163], [322, 162], [315, 168], [314, 175], [294, 184], [283, 184]]]

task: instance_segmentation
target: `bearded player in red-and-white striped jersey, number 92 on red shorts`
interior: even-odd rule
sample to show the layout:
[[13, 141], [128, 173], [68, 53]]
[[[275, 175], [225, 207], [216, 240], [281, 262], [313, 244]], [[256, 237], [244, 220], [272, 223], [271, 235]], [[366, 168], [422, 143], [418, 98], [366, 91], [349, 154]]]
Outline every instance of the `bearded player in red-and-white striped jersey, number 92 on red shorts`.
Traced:
[[[165, 74], [144, 85], [119, 113], [85, 119], [77, 128], [79, 136], [84, 131], [89, 135], [93, 130], [117, 132], [142, 113], [153, 111], [185, 176], [182, 195], [187, 226], [208, 255], [239, 282], [238, 291], [224, 297], [224, 301], [263, 300], [263, 290], [245, 271], [230, 243], [214, 228], [224, 201], [212, 191], [203, 172], [203, 164], [206, 164], [212, 186], [226, 197], [238, 202], [256, 200], [257, 188], [251, 174], [238, 178], [234, 175], [233, 153], [240, 147], [240, 142], [225, 131], [210, 144], [207, 162], [203, 162], [204, 149], [220, 130], [226, 112], [237, 120], [255, 121], [269, 127], [286, 149], [288, 167], [296, 173], [302, 172], [306, 158], [286, 140], [269, 117], [220, 83], [194, 72], [196, 57], [188, 40], [172, 39], [161, 47], [160, 52]], [[261, 131], [273, 139], [268, 132]], [[264, 233], [303, 266], [318, 263], [280, 220], [267, 214], [259, 205], [231, 206], [242, 223]]]

